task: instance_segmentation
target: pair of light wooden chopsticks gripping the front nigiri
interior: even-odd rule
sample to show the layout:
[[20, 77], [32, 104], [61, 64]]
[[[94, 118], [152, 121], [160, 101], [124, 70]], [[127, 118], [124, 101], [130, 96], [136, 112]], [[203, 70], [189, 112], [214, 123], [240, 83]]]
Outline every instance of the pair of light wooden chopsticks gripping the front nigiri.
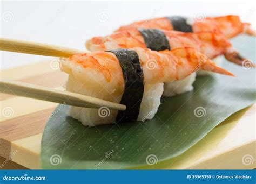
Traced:
[[[0, 51], [18, 52], [35, 55], [55, 57], [69, 57], [74, 54], [84, 53], [77, 49], [70, 49], [49, 44], [32, 43], [28, 41], [0, 38]], [[95, 97], [60, 91], [51, 88], [36, 86], [28, 83], [0, 80], [0, 92], [35, 98], [44, 101], [68, 104], [76, 107], [100, 108], [107, 107], [115, 110], [125, 110], [125, 105], [101, 100]]]

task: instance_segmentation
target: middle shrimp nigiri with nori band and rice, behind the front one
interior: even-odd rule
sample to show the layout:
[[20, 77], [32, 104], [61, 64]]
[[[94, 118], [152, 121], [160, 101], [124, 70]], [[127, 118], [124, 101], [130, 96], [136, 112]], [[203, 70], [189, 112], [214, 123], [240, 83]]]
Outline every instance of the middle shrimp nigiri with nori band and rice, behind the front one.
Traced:
[[[119, 48], [150, 48], [153, 51], [171, 50], [182, 47], [193, 47], [197, 51], [213, 59], [224, 54], [226, 59], [242, 65], [245, 60], [238, 52], [234, 51], [231, 43], [219, 32], [205, 31], [199, 33], [184, 33], [179, 31], [162, 31], [157, 29], [129, 29], [115, 32], [105, 37], [93, 37], [86, 41], [89, 51], [110, 51]], [[239, 57], [238, 57], [239, 55]], [[220, 60], [218, 61], [220, 64]], [[207, 74], [199, 71], [199, 74]], [[165, 83], [164, 96], [173, 96], [193, 90], [196, 73], [185, 79]]]

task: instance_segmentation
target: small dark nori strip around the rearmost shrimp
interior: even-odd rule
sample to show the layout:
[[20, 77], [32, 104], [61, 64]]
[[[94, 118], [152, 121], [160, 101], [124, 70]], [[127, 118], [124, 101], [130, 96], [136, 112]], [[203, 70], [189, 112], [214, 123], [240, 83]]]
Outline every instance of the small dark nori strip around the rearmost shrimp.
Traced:
[[171, 24], [175, 31], [193, 32], [192, 26], [186, 23], [187, 19], [185, 17], [173, 16], [166, 18], [171, 21]]

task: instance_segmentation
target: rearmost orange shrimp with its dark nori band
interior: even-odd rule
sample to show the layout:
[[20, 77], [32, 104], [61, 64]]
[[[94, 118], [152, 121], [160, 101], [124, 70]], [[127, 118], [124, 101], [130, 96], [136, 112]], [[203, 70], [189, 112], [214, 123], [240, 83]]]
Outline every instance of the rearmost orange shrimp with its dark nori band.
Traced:
[[244, 33], [256, 36], [255, 30], [250, 28], [249, 23], [242, 23], [238, 16], [228, 15], [223, 17], [206, 17], [203, 20], [184, 17], [163, 17], [134, 22], [130, 25], [122, 26], [117, 31], [131, 28], [151, 28], [161, 30], [176, 30], [182, 32], [219, 31], [227, 38], [233, 38]]

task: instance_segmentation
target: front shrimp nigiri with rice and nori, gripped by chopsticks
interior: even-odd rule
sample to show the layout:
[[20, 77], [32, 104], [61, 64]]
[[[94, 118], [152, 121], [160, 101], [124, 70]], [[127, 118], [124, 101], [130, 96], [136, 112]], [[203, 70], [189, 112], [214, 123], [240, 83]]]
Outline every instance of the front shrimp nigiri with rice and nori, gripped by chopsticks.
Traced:
[[[125, 111], [70, 107], [70, 115], [83, 125], [145, 121], [156, 114], [164, 82], [184, 79], [198, 69], [233, 75], [216, 66], [194, 48], [156, 52], [150, 49], [116, 49], [61, 58], [69, 74], [66, 90], [126, 105]], [[149, 67], [153, 62], [154, 67]]]

